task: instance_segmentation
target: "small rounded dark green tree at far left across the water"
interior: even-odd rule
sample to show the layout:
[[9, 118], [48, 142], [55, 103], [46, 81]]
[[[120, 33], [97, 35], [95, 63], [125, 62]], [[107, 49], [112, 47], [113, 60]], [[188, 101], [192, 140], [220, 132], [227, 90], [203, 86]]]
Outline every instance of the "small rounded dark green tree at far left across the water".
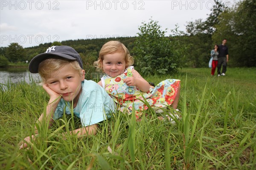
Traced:
[[15, 63], [26, 60], [26, 51], [18, 43], [11, 43], [6, 49], [6, 58]]

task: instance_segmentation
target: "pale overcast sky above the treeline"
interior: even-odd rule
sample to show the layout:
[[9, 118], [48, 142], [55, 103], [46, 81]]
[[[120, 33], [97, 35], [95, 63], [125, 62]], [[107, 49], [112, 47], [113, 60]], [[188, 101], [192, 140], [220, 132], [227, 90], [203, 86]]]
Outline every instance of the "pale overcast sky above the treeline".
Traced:
[[175, 24], [185, 32], [187, 22], [205, 20], [213, 5], [213, 0], [0, 0], [0, 46], [136, 36], [151, 17], [168, 29], [166, 35]]

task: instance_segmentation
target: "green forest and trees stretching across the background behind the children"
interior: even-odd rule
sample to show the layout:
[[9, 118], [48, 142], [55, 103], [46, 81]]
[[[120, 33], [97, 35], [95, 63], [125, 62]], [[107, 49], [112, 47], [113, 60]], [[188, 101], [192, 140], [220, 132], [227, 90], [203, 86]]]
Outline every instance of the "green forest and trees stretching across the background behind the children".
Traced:
[[214, 1], [215, 6], [207, 19], [187, 22], [186, 32], [176, 25], [171, 30], [172, 35], [166, 35], [167, 29], [162, 30], [151, 18], [139, 26], [136, 37], [65, 40], [28, 48], [11, 43], [8, 47], [0, 47], [0, 67], [30, 61], [49, 46], [66, 45], [79, 52], [86, 71], [94, 72], [93, 62], [102, 45], [109, 40], [119, 40], [134, 56], [134, 66], [143, 75], [164, 75], [181, 67], [207, 67], [211, 49], [224, 38], [228, 41], [229, 66], [256, 66], [256, 0], [240, 1], [230, 8], [221, 1]]

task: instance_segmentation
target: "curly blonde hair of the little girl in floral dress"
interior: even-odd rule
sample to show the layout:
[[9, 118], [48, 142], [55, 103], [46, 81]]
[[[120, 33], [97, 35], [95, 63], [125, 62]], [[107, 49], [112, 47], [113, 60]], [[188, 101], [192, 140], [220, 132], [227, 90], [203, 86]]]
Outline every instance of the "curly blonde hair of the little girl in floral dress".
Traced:
[[98, 61], [95, 61], [93, 66], [96, 67], [97, 71], [103, 71], [104, 55], [114, 54], [116, 52], [123, 53], [125, 55], [125, 68], [134, 63], [134, 58], [130, 55], [124, 44], [122, 44], [120, 41], [108, 41], [100, 49]]

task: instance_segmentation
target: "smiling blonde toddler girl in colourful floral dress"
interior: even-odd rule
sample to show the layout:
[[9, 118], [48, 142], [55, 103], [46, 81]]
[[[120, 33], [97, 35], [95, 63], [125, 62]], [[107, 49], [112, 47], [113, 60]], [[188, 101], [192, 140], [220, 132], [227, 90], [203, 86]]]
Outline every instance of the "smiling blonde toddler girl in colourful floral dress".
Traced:
[[148, 109], [144, 98], [158, 112], [168, 105], [177, 109], [180, 80], [167, 79], [155, 87], [150, 86], [131, 66], [133, 63], [128, 49], [119, 41], [105, 43], [99, 52], [98, 61], [94, 62], [98, 71], [105, 72], [98, 84], [114, 99], [120, 111], [131, 114], [134, 106], [135, 115], [140, 118], [143, 111]]

